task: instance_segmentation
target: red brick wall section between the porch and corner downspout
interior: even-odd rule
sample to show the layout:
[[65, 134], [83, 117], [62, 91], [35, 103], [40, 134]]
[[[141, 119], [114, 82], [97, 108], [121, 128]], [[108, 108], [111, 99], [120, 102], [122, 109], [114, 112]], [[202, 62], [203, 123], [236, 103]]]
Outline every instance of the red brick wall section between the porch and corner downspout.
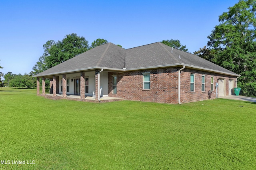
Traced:
[[[144, 102], [178, 103], [178, 70], [160, 68], [108, 73], [108, 96]], [[143, 72], [150, 72], [150, 90], [143, 90]], [[117, 75], [117, 94], [112, 92], [112, 75]]]

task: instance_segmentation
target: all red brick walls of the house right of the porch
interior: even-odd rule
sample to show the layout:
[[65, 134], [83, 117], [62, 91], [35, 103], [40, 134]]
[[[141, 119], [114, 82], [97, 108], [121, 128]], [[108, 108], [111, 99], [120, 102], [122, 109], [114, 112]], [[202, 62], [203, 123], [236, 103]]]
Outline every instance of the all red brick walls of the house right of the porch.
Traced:
[[[159, 68], [124, 73], [108, 73], [108, 96], [144, 102], [178, 104], [178, 70], [180, 68]], [[143, 72], [150, 72], [150, 90], [143, 90]], [[195, 92], [190, 92], [190, 74], [195, 74]], [[112, 75], [117, 76], [117, 94], [112, 91]], [[205, 91], [202, 92], [202, 75], [205, 75]], [[218, 78], [226, 78], [226, 95], [228, 79], [236, 77], [185, 68], [180, 74], [180, 102], [208, 100], [211, 90], [211, 76], [214, 76], [214, 91], [211, 99], [216, 98], [215, 84]]]

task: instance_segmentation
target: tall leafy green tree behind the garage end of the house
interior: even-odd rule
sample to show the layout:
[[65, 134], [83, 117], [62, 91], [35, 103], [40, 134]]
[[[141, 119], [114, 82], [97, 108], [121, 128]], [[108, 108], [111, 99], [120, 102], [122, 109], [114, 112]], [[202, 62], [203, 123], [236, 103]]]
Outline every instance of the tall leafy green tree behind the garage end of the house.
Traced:
[[239, 0], [219, 22], [208, 36], [208, 48], [195, 53], [208, 53], [210, 61], [240, 74], [242, 93], [256, 96], [256, 0]]

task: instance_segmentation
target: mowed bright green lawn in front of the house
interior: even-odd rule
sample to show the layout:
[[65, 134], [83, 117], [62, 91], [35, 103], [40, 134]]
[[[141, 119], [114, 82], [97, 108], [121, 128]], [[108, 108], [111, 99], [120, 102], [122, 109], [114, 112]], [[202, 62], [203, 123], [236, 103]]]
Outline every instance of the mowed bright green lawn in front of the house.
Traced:
[[0, 88], [0, 160], [0, 170], [256, 169], [256, 104], [89, 103]]

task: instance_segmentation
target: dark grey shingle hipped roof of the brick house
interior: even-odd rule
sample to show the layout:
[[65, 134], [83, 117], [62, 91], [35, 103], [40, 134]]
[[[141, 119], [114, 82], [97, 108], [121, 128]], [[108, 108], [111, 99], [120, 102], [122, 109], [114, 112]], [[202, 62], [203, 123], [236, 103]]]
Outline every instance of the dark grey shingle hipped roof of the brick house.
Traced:
[[172, 47], [158, 42], [131, 49], [123, 49], [113, 43], [100, 45], [41, 72], [37, 74], [36, 77], [95, 68], [108, 68], [110, 70], [123, 70], [123, 68], [126, 68], [126, 70], [136, 70], [183, 65], [191, 68], [239, 76], [201, 57], [173, 49]]

